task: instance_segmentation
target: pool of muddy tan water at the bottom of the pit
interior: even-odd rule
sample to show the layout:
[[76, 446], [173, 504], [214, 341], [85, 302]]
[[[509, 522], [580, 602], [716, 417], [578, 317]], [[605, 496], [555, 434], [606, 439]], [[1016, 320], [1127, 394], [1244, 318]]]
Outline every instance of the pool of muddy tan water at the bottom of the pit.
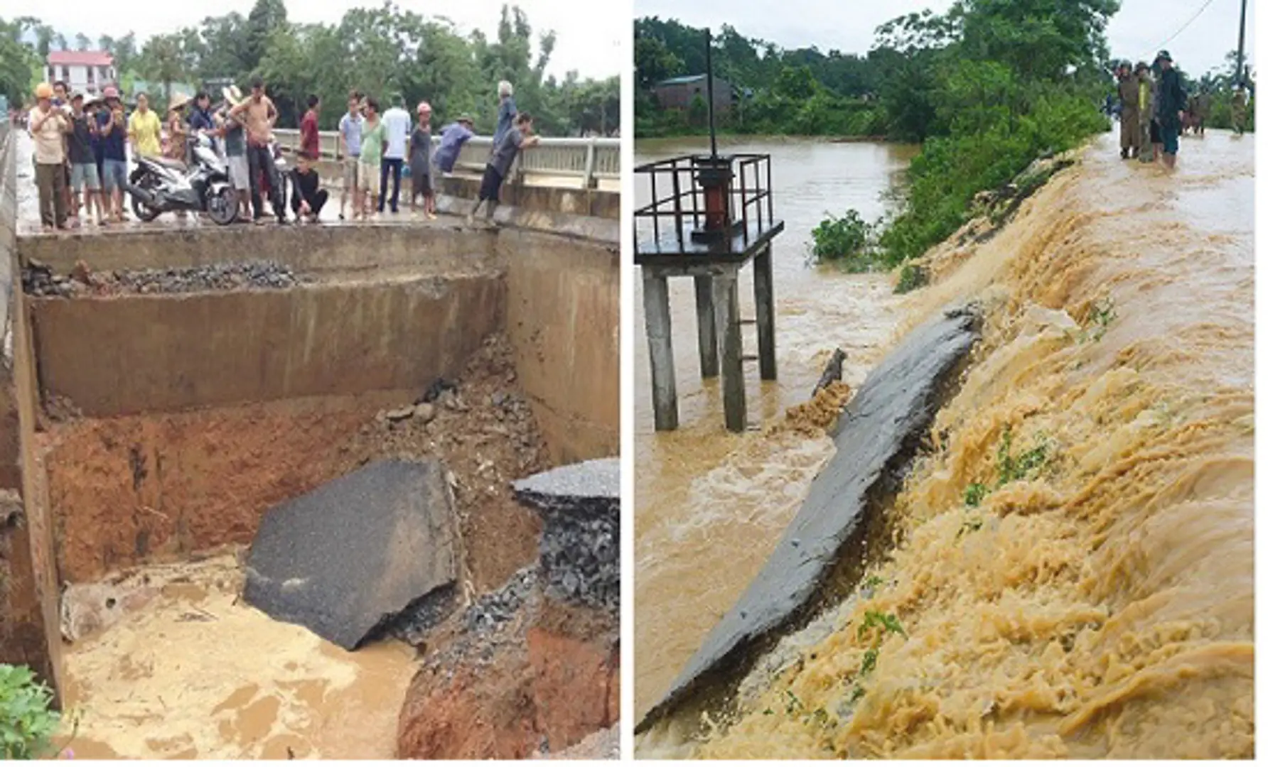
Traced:
[[139, 568], [114, 625], [65, 649], [76, 758], [393, 758], [413, 648], [355, 653], [238, 598], [236, 557]]

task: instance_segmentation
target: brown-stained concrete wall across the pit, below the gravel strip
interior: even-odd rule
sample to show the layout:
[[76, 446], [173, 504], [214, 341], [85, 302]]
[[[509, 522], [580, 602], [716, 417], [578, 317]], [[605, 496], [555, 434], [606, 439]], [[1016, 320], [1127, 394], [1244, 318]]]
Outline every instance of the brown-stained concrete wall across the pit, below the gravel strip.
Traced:
[[496, 273], [32, 300], [44, 397], [87, 416], [416, 389], [502, 327]]

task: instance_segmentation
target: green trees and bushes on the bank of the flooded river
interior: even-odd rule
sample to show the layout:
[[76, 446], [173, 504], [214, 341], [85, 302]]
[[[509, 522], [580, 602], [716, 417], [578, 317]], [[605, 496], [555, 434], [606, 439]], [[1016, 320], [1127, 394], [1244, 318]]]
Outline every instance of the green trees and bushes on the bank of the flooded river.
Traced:
[[[741, 89], [723, 129], [922, 142], [898, 216], [867, 223], [848, 210], [814, 231], [820, 261], [893, 269], [961, 227], [976, 193], [1108, 128], [1099, 110], [1113, 87], [1104, 27], [1117, 10], [1117, 0], [957, 0], [945, 14], [883, 24], [865, 57], [784, 51], [723, 27], [715, 71]], [[661, 110], [650, 91], [666, 77], [704, 71], [701, 41], [701, 30], [677, 22], [635, 22], [638, 136], [704, 129], [692, 110]], [[904, 270], [899, 289], [924, 278]]]

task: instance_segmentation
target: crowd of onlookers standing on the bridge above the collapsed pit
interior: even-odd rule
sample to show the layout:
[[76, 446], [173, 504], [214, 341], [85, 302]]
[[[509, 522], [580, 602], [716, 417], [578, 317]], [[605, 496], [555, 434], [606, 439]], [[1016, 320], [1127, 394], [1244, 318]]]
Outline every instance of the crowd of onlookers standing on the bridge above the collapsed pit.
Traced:
[[[223, 162], [236, 191], [238, 221], [265, 223], [268, 200], [271, 218], [278, 223], [288, 223], [288, 208], [297, 222], [318, 222], [330, 202], [331, 193], [316, 167], [321, 157], [317, 96], [307, 99], [307, 110], [299, 120], [297, 162], [284, 172], [274, 136], [278, 109], [259, 77], [251, 81], [249, 95], [243, 96], [237, 86], [224, 87], [216, 104], [208, 93], [193, 99], [176, 96], [162, 119], [151, 109], [146, 94], [138, 94], [136, 108], [127, 113], [114, 87], [104, 89], [100, 96], [85, 96], [67, 93], [61, 81], [42, 82], [34, 95], [36, 105], [29, 113], [11, 119], [20, 120], [34, 141], [36, 186], [46, 231], [75, 228], [81, 221], [103, 227], [127, 221], [129, 152], [193, 164], [197, 161], [193, 147], [200, 141], [210, 143]], [[463, 146], [474, 136], [474, 120], [459, 115], [440, 131], [439, 146], [432, 151], [431, 105], [417, 104], [415, 117], [417, 122], [399, 94], [393, 94], [382, 112], [377, 99], [360, 91], [349, 95], [335, 151], [342, 175], [340, 221], [345, 219], [349, 203], [354, 221], [387, 210], [398, 213], [406, 167], [412, 186], [410, 209], [436, 218], [434, 177], [454, 172]], [[516, 156], [538, 141], [531, 115], [515, 106], [511, 84], [500, 82], [497, 129], [479, 199], [468, 222], [474, 221], [482, 205], [486, 218], [492, 219]]]

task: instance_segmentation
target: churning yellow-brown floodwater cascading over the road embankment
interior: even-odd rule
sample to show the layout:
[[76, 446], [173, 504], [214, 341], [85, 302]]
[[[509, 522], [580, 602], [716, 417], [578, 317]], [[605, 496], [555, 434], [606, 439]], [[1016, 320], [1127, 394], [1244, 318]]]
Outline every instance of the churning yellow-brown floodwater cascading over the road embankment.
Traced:
[[932, 254], [909, 323], [987, 322], [900, 544], [696, 756], [1253, 754], [1254, 157], [1186, 148], [1168, 175], [1103, 137]]

